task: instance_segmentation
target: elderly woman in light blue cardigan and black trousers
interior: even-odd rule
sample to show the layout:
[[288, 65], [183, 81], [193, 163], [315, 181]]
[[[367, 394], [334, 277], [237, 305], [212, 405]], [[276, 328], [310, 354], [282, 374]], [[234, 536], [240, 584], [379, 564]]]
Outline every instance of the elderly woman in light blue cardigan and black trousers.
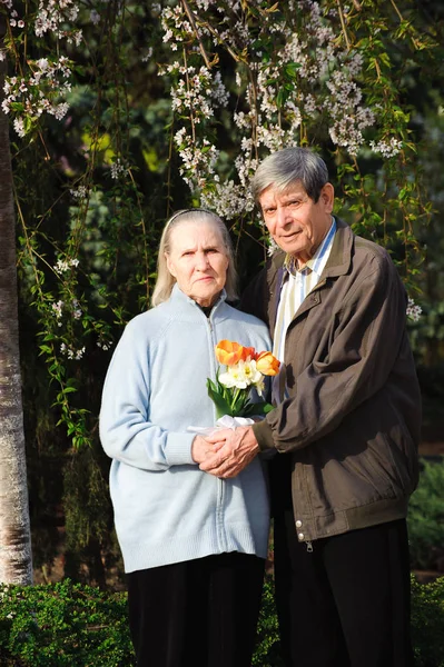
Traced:
[[155, 308], [134, 318], [103, 388], [100, 437], [128, 580], [139, 667], [249, 667], [268, 538], [260, 461], [236, 479], [199, 468], [215, 424], [215, 345], [269, 349], [266, 326], [228, 306], [236, 273], [217, 216], [179, 211], [159, 249]]

